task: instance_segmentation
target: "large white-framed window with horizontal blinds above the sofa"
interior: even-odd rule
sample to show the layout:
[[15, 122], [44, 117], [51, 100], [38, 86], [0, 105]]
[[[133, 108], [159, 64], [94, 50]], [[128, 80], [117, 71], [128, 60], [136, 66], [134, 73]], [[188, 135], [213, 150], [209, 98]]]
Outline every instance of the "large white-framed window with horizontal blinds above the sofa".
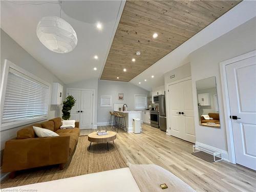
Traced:
[[5, 61], [1, 90], [1, 130], [47, 119], [49, 84]]

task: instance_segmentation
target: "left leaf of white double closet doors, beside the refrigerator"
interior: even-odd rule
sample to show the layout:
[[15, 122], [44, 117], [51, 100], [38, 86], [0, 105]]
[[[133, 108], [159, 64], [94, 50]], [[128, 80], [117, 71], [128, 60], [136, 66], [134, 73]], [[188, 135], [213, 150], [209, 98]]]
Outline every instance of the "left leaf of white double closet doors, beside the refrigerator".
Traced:
[[179, 83], [168, 86], [170, 135], [184, 139], [185, 123], [181, 115], [183, 108], [183, 90]]

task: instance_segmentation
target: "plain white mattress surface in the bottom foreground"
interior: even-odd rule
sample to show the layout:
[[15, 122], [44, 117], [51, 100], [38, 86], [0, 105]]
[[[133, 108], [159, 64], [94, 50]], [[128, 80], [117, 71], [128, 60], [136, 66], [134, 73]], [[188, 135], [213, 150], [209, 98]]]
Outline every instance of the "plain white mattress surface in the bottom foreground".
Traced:
[[[43, 183], [8, 188], [8, 191], [140, 191], [128, 167]], [[33, 190], [34, 189], [34, 190]], [[3, 190], [3, 189], [2, 189]]]

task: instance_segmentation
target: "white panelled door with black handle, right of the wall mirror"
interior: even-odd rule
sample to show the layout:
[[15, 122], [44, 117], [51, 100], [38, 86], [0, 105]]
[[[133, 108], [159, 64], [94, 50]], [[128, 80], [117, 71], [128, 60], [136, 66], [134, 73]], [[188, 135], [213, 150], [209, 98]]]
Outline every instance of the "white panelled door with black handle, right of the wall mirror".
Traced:
[[226, 66], [236, 162], [256, 170], [256, 56]]

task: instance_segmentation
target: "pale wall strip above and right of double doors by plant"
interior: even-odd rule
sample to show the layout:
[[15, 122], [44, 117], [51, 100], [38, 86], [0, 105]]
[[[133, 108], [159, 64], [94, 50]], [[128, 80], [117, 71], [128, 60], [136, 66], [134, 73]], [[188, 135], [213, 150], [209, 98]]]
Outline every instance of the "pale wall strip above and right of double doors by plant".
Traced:
[[98, 99], [98, 78], [91, 78], [83, 81], [73, 82], [66, 84], [66, 88], [74, 88], [74, 89], [91, 89], [95, 90], [95, 101], [94, 101], [94, 118], [93, 118], [93, 127], [97, 127], [97, 99]]

